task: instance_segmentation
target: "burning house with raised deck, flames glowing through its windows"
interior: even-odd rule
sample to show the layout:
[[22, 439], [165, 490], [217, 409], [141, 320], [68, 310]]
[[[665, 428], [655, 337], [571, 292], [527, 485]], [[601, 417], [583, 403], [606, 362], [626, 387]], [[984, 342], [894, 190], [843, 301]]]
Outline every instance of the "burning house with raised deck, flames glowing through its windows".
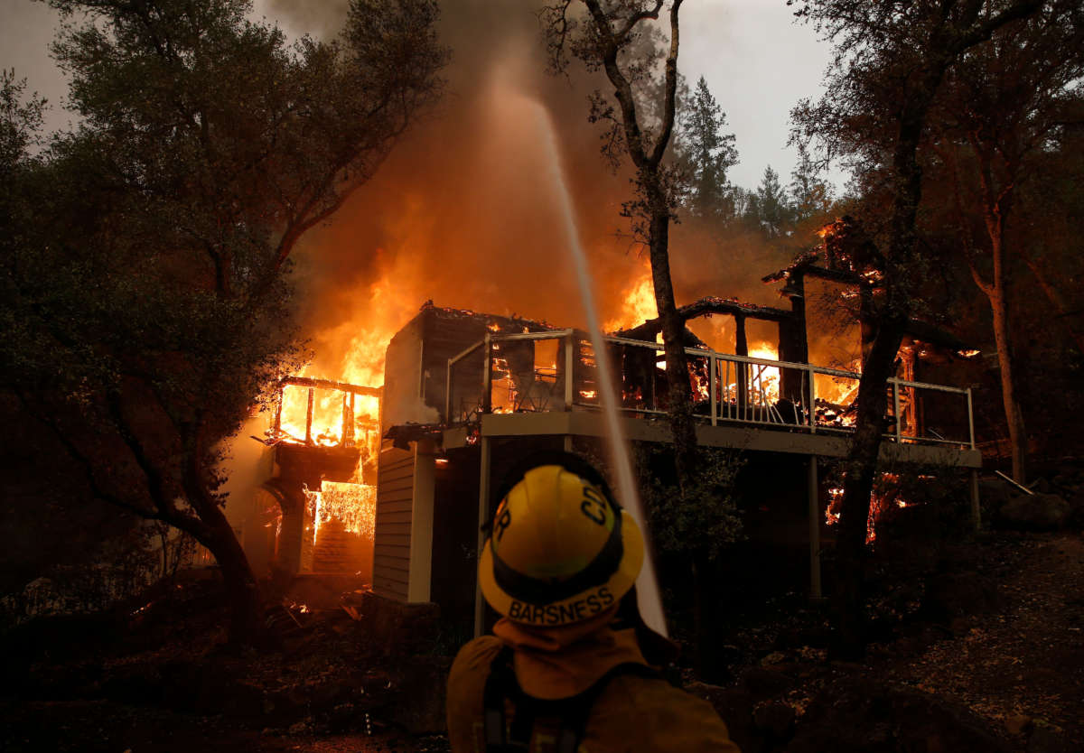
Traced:
[[[706, 298], [682, 315], [691, 326], [685, 347], [698, 440], [740, 451], [752, 467], [747, 475], [769, 479], [741, 490], [749, 538], [782, 537], [806, 550], [808, 588], [820, 596], [834, 498], [818, 460], [847, 454], [860, 375], [810, 362], [810, 280], [855, 282], [804, 260], [765, 278], [783, 283], [789, 308]], [[693, 333], [705, 316], [728, 317], [734, 352], [713, 350]], [[751, 347], [753, 324], [773, 329], [774, 342]], [[622, 428], [633, 441], [670, 437], [658, 332], [659, 322], [648, 320], [606, 338]], [[918, 380], [926, 364], [955, 358], [962, 347], [914, 323], [889, 385], [881, 452], [890, 464], [972, 469], [973, 490], [981, 456], [970, 391]], [[287, 380], [266, 440], [276, 472], [260, 492], [263, 558], [292, 573], [371, 573], [383, 596], [436, 601], [450, 619], [473, 615], [479, 624], [475, 553], [494, 485], [532, 450], [605, 455], [595, 356], [582, 330], [429, 301], [391, 337], [383, 389]], [[362, 400], [378, 405], [360, 408]]]

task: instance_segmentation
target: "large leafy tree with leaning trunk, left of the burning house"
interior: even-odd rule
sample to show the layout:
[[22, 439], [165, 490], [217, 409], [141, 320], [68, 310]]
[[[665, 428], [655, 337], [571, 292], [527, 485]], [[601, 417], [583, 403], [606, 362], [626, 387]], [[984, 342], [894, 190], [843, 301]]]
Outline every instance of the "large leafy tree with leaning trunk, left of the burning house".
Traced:
[[260, 595], [222, 510], [220, 442], [298, 365], [289, 257], [440, 93], [431, 0], [352, 0], [341, 37], [247, 0], [53, 0], [82, 124], [4, 218], [2, 387], [90, 494], [217, 559], [231, 640]]

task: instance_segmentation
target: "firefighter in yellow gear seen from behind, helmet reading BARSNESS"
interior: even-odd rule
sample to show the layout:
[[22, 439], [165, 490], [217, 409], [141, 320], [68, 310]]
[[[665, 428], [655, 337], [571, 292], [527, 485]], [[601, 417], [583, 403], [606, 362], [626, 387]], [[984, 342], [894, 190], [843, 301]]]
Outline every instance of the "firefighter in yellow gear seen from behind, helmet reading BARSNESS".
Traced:
[[500, 498], [478, 579], [503, 616], [452, 665], [452, 751], [737, 753], [711, 705], [653, 666], [673, 644], [640, 618], [644, 538], [598, 471], [534, 456]]

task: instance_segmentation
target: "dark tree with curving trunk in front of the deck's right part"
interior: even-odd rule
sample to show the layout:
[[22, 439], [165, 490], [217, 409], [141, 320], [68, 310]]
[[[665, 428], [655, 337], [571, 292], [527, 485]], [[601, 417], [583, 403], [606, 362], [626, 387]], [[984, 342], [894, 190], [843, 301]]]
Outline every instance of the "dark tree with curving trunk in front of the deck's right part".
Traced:
[[866, 520], [887, 413], [887, 382], [918, 298], [928, 260], [916, 219], [922, 197], [918, 150], [946, 73], [1006, 24], [1046, 5], [1042, 0], [788, 0], [836, 44], [827, 92], [793, 113], [802, 138], [816, 138], [826, 156], [847, 155], [855, 168], [878, 172], [889, 210], [882, 223], [847, 238], [861, 270], [879, 289], [868, 298], [876, 323], [864, 353], [855, 431], [836, 551], [835, 594], [841, 653], [862, 651], [861, 581]]

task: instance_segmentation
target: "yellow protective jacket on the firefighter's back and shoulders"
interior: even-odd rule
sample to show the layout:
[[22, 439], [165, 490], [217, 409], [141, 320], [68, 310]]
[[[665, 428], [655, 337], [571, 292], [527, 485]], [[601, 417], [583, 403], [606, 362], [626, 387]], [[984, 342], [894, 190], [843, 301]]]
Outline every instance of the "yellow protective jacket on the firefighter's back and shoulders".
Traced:
[[[464, 646], [448, 679], [448, 737], [454, 753], [486, 753], [483, 691], [490, 665], [504, 646], [514, 649], [516, 679], [535, 698], [578, 694], [618, 663], [645, 663], [632, 631], [526, 629], [507, 620]], [[530, 753], [556, 749], [555, 730], [534, 726]], [[595, 700], [579, 753], [682, 751], [739, 753], [711, 704], [664, 679], [619, 674]]]

